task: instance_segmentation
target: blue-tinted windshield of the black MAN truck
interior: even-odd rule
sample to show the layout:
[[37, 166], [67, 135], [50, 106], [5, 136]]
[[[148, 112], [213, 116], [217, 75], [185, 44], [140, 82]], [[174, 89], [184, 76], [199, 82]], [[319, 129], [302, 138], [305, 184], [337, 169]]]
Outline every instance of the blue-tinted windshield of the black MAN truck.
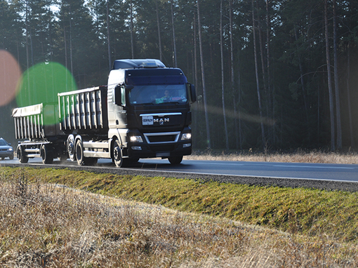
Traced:
[[129, 93], [132, 105], [185, 103], [187, 102], [186, 85], [145, 85], [134, 86]]

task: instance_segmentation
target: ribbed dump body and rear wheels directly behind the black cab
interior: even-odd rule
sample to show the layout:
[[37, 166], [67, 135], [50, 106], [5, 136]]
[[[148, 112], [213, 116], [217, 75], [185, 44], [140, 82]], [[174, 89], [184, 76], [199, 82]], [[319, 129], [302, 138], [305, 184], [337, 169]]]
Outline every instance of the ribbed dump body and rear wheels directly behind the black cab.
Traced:
[[79, 165], [111, 158], [107, 86], [58, 94], [60, 129], [69, 134], [67, 153]]

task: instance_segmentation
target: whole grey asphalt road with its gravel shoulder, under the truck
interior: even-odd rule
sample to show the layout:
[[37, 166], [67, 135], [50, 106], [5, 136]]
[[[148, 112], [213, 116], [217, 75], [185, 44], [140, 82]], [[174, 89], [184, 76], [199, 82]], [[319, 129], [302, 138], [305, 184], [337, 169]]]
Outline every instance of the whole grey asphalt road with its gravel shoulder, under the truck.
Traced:
[[[2, 165], [18, 166], [19, 163], [18, 159], [4, 160], [0, 161]], [[71, 161], [54, 161], [53, 165], [44, 165], [40, 159], [29, 159], [26, 166], [358, 192], [358, 165], [353, 164], [183, 160], [180, 165], [171, 165], [166, 159], [140, 159], [133, 166], [116, 168], [107, 159], [100, 159], [96, 166], [91, 167], [77, 166], [77, 162]]]

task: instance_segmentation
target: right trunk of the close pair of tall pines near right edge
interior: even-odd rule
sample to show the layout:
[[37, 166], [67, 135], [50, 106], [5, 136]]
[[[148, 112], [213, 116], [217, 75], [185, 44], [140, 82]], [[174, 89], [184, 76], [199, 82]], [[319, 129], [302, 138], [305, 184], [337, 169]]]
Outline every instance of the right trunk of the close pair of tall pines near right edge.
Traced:
[[338, 52], [337, 52], [337, 14], [336, 0], [333, 0], [333, 58], [334, 58], [334, 89], [336, 93], [337, 149], [342, 149], [342, 126], [340, 123], [340, 97], [338, 88]]

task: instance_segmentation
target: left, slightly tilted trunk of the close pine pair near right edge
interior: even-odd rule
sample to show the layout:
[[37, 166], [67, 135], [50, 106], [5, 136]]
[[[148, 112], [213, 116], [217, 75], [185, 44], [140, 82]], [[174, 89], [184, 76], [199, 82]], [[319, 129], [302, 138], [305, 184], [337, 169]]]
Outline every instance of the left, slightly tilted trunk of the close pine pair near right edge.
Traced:
[[327, 78], [329, 87], [329, 114], [331, 115], [331, 151], [335, 151], [335, 135], [334, 135], [334, 107], [333, 107], [333, 91], [331, 77], [331, 59], [329, 57], [329, 29], [328, 29], [328, 4], [324, 0], [324, 35], [326, 37], [326, 62], [327, 62]]

